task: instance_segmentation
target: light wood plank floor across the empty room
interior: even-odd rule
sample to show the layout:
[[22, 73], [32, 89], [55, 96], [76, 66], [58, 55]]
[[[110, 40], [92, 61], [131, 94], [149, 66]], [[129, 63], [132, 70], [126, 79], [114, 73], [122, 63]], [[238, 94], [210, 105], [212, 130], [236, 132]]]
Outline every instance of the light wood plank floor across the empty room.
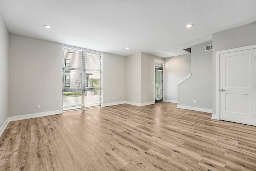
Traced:
[[1, 171], [256, 170], [256, 127], [174, 103], [123, 104], [10, 122]]

